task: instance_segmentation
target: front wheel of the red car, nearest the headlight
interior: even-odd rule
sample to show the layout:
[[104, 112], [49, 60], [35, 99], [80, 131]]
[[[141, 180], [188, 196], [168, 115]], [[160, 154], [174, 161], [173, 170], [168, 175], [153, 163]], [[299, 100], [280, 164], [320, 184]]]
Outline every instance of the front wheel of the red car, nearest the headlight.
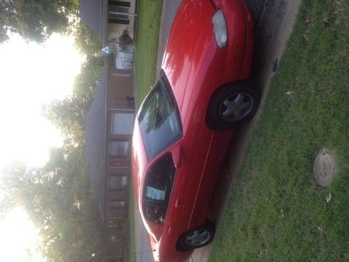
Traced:
[[252, 119], [260, 104], [260, 94], [249, 82], [223, 85], [214, 92], [207, 108], [209, 129], [226, 130]]

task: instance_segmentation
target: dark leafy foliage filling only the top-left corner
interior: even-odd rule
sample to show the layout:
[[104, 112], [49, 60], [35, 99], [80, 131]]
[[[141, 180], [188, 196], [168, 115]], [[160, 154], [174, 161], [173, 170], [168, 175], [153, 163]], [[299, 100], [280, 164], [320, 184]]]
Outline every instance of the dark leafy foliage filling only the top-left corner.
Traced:
[[0, 43], [8, 39], [7, 31], [39, 43], [54, 32], [65, 33], [77, 17], [78, 6], [77, 0], [0, 1]]

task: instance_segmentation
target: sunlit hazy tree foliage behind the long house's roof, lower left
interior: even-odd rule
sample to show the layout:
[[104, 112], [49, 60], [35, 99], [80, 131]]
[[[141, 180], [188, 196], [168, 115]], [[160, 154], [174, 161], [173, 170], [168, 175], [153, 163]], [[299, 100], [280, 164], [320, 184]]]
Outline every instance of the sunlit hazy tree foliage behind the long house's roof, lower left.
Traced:
[[27, 210], [40, 229], [40, 248], [48, 261], [103, 261], [105, 250], [110, 250], [84, 157], [84, 117], [102, 70], [101, 57], [87, 57], [73, 94], [45, 108], [45, 115], [64, 133], [64, 147], [52, 149], [43, 168], [16, 163], [1, 179], [3, 214], [16, 206]]

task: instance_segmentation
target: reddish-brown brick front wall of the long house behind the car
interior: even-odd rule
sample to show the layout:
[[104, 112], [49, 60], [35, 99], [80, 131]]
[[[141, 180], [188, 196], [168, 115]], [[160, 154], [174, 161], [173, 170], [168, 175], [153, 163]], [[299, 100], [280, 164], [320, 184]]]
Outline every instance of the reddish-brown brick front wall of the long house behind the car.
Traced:
[[[128, 100], [133, 96], [133, 78], [129, 77], [132, 71], [109, 68], [107, 72], [107, 145], [106, 145], [106, 168], [105, 168], [105, 219], [127, 217], [128, 187], [126, 189], [111, 189], [108, 182], [111, 176], [122, 175], [127, 177], [127, 183], [131, 181], [131, 139], [132, 130], [129, 133], [113, 134], [112, 127], [119, 123], [113, 123], [113, 114], [119, 117], [135, 115], [134, 105]], [[133, 124], [134, 119], [132, 119]], [[120, 123], [124, 124], [124, 123]], [[130, 127], [131, 128], [131, 127]], [[126, 142], [128, 149], [122, 156], [114, 156], [110, 152], [112, 142]], [[122, 151], [122, 150], [121, 150]], [[107, 205], [109, 201], [126, 201], [124, 207], [114, 208]], [[125, 214], [126, 212], [126, 214]]]

